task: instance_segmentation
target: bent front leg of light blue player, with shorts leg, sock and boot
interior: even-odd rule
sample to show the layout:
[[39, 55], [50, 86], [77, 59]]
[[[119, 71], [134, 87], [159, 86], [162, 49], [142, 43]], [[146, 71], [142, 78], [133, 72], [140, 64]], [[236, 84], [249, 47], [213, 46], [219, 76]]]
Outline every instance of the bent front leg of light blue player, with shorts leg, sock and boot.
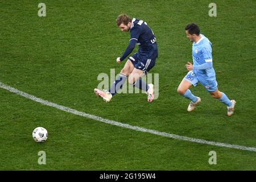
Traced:
[[179, 93], [181, 96], [187, 98], [188, 100], [191, 100], [191, 102], [188, 105], [188, 111], [192, 111], [195, 109], [196, 105], [201, 102], [200, 97], [196, 97], [191, 93], [191, 90], [189, 88], [194, 85], [197, 85], [197, 79], [196, 76], [193, 74], [193, 72], [188, 72], [188, 74], [183, 78], [183, 80], [180, 82], [180, 85], [177, 88], [177, 93]]

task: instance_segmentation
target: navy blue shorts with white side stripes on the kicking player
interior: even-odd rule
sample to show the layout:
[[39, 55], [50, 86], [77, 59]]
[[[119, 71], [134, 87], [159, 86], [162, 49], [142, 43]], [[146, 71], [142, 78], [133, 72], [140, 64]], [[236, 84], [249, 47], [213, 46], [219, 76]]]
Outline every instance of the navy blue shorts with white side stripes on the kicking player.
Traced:
[[129, 60], [133, 63], [135, 68], [141, 69], [146, 75], [147, 72], [155, 66], [156, 58], [151, 56], [142, 56], [136, 52], [133, 56], [129, 57]]

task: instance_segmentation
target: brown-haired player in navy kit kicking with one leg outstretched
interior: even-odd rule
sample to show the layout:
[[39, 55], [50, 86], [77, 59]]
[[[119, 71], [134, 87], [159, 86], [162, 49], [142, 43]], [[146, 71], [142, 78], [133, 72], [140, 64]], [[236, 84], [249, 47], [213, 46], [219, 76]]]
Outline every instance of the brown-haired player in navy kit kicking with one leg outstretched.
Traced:
[[158, 46], [154, 33], [146, 22], [135, 18], [130, 19], [126, 14], [119, 15], [116, 23], [121, 31], [130, 31], [131, 34], [129, 45], [123, 55], [117, 57], [117, 63], [121, 63], [121, 61], [125, 60], [125, 58], [133, 52], [136, 44], [138, 44], [139, 50], [126, 61], [125, 66], [109, 91], [94, 89], [94, 93], [102, 97], [104, 101], [109, 102], [114, 94], [122, 88], [122, 85], [128, 77], [129, 84], [146, 91], [147, 101], [152, 102], [154, 100], [154, 85], [146, 84], [141, 77], [146, 75], [147, 72], [154, 67], [156, 58], [158, 57]]

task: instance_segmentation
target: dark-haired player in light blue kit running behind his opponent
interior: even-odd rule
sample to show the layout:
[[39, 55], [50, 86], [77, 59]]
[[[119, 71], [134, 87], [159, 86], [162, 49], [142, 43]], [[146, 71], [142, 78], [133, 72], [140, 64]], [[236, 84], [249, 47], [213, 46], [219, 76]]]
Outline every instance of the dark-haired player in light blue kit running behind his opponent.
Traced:
[[193, 65], [190, 62], [187, 62], [185, 65], [189, 72], [180, 82], [177, 92], [191, 100], [188, 106], [188, 111], [190, 112], [201, 102], [201, 98], [194, 96], [189, 88], [192, 85], [196, 86], [200, 82], [213, 98], [217, 98], [228, 107], [228, 116], [232, 115], [236, 101], [230, 101], [226, 94], [220, 92], [217, 88], [215, 71], [212, 64], [212, 43], [208, 38], [200, 34], [200, 28], [195, 23], [188, 24], [185, 27], [185, 32], [187, 38], [193, 42]]

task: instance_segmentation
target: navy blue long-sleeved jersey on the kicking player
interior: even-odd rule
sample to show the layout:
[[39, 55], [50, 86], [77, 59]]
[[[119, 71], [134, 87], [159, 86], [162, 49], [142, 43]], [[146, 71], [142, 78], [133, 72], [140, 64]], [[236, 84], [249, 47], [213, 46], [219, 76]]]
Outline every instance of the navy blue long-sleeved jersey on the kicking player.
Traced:
[[124, 60], [134, 49], [135, 44], [137, 43], [139, 46], [138, 53], [142, 56], [150, 55], [155, 59], [158, 57], [158, 48], [156, 45], [156, 38], [154, 33], [152, 32], [151, 28], [148, 27], [147, 23], [143, 20], [133, 18], [131, 22], [130, 28], [130, 42], [129, 46], [127, 46], [125, 53], [120, 58], [120, 60]]

